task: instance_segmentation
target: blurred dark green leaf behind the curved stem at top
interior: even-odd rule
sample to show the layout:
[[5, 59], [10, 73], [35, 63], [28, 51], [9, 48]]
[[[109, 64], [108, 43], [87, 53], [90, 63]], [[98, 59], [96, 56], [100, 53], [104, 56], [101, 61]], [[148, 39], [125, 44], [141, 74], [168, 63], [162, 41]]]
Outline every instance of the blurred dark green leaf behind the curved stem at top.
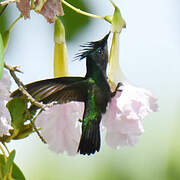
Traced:
[[[86, 5], [87, 1], [83, 0], [68, 0], [68, 3], [72, 4], [76, 8], [79, 8], [83, 11], [89, 12], [88, 6]], [[63, 5], [64, 16], [61, 17], [63, 24], [66, 30], [66, 39], [72, 39], [81, 29], [83, 29], [90, 21], [90, 18], [76, 13], [72, 9]]]

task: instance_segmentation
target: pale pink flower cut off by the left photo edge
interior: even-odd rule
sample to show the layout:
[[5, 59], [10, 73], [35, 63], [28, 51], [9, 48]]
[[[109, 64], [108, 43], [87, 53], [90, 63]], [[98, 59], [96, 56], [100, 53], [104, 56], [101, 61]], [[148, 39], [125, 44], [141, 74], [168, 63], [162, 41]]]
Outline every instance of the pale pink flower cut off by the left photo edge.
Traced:
[[9, 100], [11, 81], [8, 73], [3, 71], [0, 80], [0, 136], [8, 135], [11, 125], [11, 117], [8, 109], [6, 108], [6, 102]]

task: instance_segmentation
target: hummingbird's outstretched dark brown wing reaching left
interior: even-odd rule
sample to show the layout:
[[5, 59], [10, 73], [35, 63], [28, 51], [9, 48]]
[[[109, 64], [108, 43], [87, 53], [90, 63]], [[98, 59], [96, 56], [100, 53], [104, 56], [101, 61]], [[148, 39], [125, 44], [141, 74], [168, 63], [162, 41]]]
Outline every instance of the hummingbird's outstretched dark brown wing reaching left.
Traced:
[[[37, 101], [66, 103], [69, 101], [85, 101], [87, 86], [87, 81], [83, 77], [62, 77], [33, 82], [25, 85], [25, 88]], [[11, 97], [19, 96], [22, 96], [20, 90], [11, 94]]]

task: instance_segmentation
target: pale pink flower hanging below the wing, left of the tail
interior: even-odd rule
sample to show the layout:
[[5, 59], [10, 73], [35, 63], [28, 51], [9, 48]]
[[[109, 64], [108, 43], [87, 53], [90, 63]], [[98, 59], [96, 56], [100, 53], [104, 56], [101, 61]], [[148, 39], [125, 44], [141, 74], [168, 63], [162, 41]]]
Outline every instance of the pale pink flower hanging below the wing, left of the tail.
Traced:
[[78, 120], [82, 118], [83, 110], [83, 103], [70, 102], [54, 105], [37, 117], [36, 125], [41, 128], [51, 150], [56, 153], [66, 151], [69, 155], [77, 153], [80, 140]]

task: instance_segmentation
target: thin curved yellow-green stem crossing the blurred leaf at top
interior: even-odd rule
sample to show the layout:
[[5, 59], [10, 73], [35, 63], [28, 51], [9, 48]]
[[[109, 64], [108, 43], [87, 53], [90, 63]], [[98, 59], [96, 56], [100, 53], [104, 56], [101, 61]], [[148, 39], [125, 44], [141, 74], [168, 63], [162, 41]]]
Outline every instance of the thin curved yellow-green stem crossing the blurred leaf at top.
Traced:
[[95, 14], [91, 14], [91, 13], [87, 13], [85, 11], [82, 11], [74, 6], [72, 6], [71, 4], [69, 4], [68, 2], [66, 2], [65, 0], [60, 0], [63, 4], [65, 4], [67, 7], [71, 8], [72, 10], [74, 10], [75, 12], [77, 12], [78, 14], [82, 14], [84, 16], [88, 16], [88, 17], [92, 17], [92, 18], [98, 18], [98, 19], [105, 19], [105, 17], [102, 16], [97, 16]]

